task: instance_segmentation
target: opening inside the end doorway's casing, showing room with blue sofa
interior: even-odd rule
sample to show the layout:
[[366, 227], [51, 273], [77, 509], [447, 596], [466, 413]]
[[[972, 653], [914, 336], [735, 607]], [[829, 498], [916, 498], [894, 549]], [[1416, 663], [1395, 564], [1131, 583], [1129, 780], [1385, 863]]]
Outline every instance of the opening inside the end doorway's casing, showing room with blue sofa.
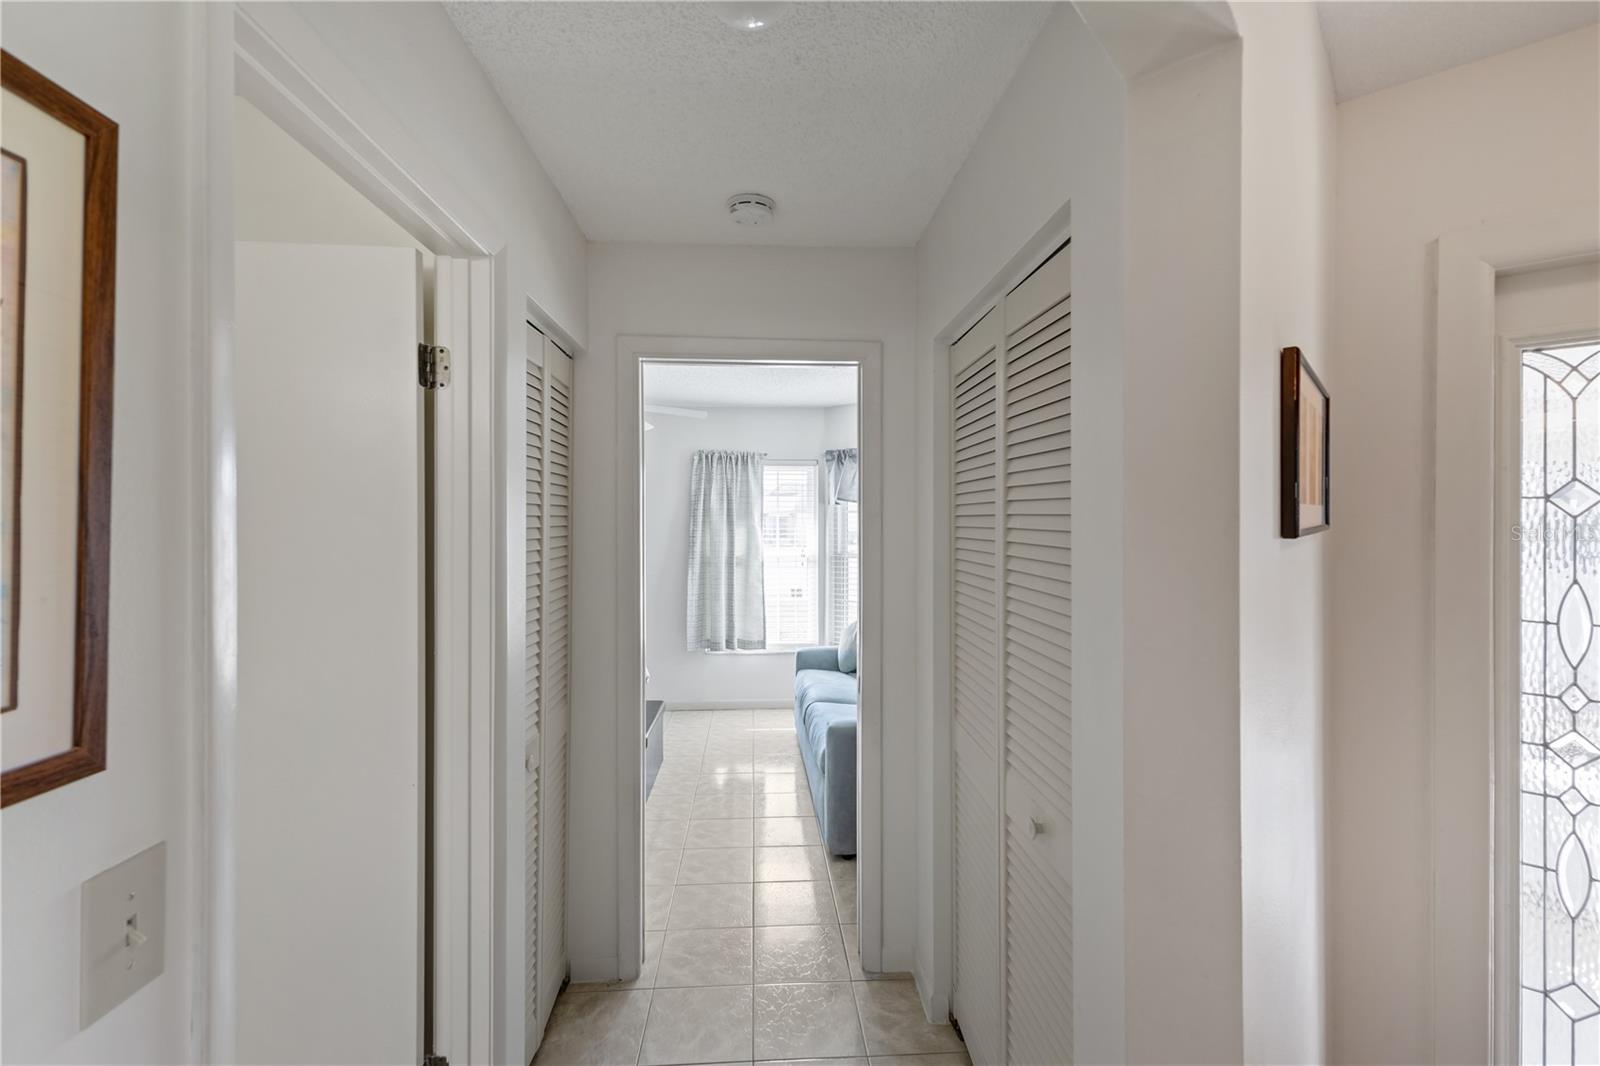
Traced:
[[[733, 936], [779, 980], [760, 941], [784, 925], [848, 980], [859, 367], [645, 362], [642, 387], [645, 967], [714, 978], [696, 949]], [[746, 906], [750, 933], [686, 933]]]

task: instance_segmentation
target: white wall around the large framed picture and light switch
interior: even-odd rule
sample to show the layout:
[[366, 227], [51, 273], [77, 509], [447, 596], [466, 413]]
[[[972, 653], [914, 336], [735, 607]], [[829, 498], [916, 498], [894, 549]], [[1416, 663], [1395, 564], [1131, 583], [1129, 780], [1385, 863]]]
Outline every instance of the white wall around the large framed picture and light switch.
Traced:
[[[194, 1061], [194, 11], [6, 5], [6, 51], [120, 125], [107, 768], [0, 813], [0, 1058]], [[158, 264], [158, 269], [157, 266]], [[166, 842], [166, 970], [78, 1031], [78, 885]]]

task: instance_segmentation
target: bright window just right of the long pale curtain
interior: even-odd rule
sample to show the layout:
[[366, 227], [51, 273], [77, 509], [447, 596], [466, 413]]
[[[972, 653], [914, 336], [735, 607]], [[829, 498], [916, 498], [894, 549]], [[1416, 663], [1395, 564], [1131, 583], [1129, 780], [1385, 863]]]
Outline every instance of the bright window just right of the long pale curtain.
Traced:
[[766, 463], [762, 474], [762, 552], [766, 647], [816, 643], [816, 463]]

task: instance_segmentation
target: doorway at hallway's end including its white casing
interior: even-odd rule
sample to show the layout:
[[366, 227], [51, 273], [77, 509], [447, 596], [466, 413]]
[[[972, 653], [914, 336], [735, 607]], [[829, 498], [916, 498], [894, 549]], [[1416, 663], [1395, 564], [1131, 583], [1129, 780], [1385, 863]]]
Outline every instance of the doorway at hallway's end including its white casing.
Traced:
[[[760, 1052], [763, 989], [835, 983], [846, 1018], [880, 968], [882, 346], [618, 359], [619, 976], [754, 988]], [[778, 964], [794, 938], [826, 976]]]

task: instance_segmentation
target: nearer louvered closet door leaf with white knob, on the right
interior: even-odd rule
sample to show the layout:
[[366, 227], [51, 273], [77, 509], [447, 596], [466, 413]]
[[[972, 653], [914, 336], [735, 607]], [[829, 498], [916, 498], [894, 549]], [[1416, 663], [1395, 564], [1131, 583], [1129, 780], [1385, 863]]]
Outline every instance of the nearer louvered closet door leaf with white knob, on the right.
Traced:
[[1005, 298], [1006, 1052], [1072, 1061], [1072, 253]]

